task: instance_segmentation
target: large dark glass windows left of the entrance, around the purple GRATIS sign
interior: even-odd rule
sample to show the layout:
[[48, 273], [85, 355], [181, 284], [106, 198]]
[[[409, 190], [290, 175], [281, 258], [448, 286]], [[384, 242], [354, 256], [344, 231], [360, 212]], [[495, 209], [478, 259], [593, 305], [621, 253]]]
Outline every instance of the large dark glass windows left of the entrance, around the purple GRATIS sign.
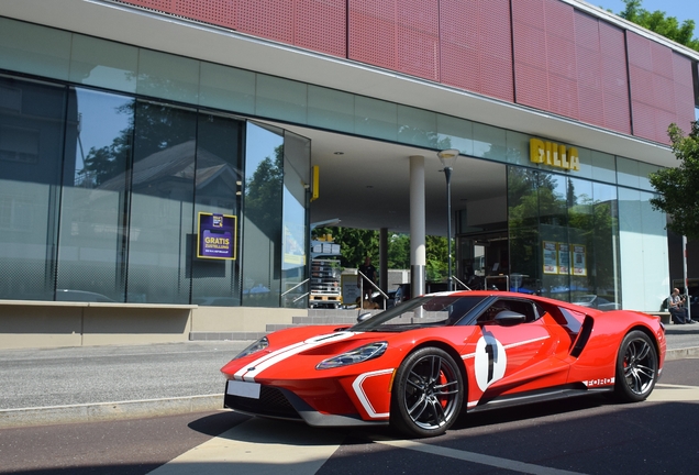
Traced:
[[[0, 299], [306, 306], [280, 299], [307, 275], [306, 137], [9, 76], [0, 92]], [[202, 216], [231, 220], [226, 257], [200, 254]]]

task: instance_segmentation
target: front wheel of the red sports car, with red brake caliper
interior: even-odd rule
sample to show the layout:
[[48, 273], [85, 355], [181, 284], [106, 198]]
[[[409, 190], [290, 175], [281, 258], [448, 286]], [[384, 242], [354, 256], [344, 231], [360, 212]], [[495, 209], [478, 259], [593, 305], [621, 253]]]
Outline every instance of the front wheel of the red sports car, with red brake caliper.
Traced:
[[419, 438], [440, 435], [457, 419], [464, 379], [444, 350], [423, 347], [401, 363], [391, 394], [391, 424]]

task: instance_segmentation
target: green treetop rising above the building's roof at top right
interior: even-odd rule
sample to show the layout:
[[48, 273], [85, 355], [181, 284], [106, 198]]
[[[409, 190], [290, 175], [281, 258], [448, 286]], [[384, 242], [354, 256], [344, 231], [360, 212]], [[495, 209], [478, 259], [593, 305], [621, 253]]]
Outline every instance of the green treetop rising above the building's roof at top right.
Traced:
[[619, 13], [622, 19], [663, 35], [675, 43], [699, 51], [699, 40], [694, 37], [694, 20], [685, 20], [680, 25], [675, 16], [665, 16], [664, 11], [656, 10], [651, 12], [643, 9], [642, 0], [623, 1], [626, 8]]

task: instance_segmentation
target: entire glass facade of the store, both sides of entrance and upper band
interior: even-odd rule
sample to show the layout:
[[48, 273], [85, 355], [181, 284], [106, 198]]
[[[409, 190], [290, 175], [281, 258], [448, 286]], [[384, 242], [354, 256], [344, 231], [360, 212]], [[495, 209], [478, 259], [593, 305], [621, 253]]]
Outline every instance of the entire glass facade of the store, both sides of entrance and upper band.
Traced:
[[[667, 292], [635, 272], [668, 275], [637, 161], [578, 147], [552, 173], [515, 131], [3, 18], [0, 70], [1, 299], [307, 307], [310, 143], [231, 114], [506, 164], [523, 288]], [[235, 258], [198, 257], [201, 213], [235, 217]]]

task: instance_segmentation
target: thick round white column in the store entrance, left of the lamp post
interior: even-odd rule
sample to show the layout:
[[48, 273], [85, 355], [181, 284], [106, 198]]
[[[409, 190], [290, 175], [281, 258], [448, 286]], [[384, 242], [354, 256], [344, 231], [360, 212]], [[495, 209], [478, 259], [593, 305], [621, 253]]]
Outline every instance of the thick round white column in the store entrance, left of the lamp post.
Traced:
[[424, 156], [410, 157], [410, 281], [412, 295], [425, 292]]

